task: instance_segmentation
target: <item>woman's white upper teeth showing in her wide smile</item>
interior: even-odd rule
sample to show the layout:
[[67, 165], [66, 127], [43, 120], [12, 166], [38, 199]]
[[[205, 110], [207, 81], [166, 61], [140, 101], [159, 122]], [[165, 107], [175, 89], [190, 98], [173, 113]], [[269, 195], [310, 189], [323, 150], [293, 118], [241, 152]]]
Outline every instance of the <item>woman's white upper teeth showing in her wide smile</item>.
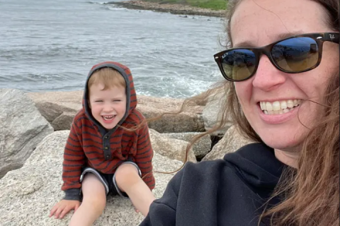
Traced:
[[264, 114], [283, 114], [299, 106], [301, 100], [282, 100], [275, 102], [260, 102]]

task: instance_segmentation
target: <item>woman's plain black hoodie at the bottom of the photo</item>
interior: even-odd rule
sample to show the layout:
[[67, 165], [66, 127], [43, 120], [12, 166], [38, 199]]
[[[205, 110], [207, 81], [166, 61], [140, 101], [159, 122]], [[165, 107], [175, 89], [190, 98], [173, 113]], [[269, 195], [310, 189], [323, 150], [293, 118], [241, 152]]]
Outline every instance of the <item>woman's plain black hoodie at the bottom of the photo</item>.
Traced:
[[[188, 162], [140, 225], [257, 226], [283, 167], [262, 143], [246, 145], [223, 160]], [[278, 201], [273, 198], [269, 206]]]

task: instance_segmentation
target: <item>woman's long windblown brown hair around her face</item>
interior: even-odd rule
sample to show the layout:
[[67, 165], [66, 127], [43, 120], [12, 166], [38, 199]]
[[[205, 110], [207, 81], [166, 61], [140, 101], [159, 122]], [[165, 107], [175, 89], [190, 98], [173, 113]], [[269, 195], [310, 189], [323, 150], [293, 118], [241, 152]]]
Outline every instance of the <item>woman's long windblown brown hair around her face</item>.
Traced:
[[[229, 21], [242, 0], [229, 0], [226, 33], [232, 46]], [[312, 0], [327, 11], [327, 25], [339, 31], [339, 0]], [[237, 129], [253, 141], [261, 138], [251, 128], [237, 100], [232, 83], [227, 83], [225, 109]], [[339, 225], [339, 71], [331, 76], [323, 104], [319, 104], [319, 121], [302, 143], [297, 172], [283, 173], [273, 196], [283, 196], [278, 206], [267, 209], [271, 225]]]

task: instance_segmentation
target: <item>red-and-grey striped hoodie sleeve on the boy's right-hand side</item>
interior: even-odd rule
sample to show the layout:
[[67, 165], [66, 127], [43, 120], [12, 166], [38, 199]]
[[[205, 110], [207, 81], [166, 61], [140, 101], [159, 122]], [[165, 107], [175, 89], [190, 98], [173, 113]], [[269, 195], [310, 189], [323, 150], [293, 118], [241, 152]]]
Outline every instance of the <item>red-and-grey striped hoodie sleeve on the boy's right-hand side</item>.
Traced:
[[[135, 156], [135, 162], [140, 167], [142, 172], [142, 177], [147, 174], [147, 177], [143, 178], [145, 184], [149, 186], [149, 189], [154, 189], [154, 175], [152, 174], [152, 157], [154, 156], [154, 151], [152, 150], [152, 145], [149, 136], [149, 128], [145, 125], [138, 132], [137, 139], [137, 153]], [[148, 174], [149, 173], [149, 174]]]

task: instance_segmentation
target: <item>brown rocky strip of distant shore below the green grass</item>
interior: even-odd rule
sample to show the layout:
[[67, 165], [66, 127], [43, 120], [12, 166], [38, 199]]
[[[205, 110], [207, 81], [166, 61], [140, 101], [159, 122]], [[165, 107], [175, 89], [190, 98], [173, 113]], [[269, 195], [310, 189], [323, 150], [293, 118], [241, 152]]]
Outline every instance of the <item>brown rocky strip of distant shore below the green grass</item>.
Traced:
[[224, 10], [212, 10], [208, 8], [198, 8], [193, 6], [186, 6], [181, 4], [158, 4], [149, 1], [111, 1], [107, 4], [115, 4], [124, 8], [151, 10], [158, 12], [166, 12], [179, 15], [197, 15], [197, 16], [212, 16], [224, 17]]

